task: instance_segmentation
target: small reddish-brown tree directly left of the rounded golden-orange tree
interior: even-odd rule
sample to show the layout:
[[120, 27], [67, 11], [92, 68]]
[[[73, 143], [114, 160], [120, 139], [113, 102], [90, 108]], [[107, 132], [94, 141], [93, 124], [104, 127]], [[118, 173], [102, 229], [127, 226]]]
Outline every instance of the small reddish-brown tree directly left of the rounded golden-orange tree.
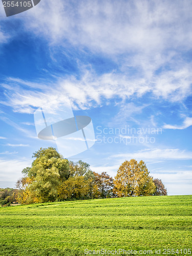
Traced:
[[106, 172], [102, 172], [101, 174], [95, 173], [95, 181], [94, 184], [97, 187], [100, 198], [109, 198], [113, 196], [113, 178], [110, 177]]

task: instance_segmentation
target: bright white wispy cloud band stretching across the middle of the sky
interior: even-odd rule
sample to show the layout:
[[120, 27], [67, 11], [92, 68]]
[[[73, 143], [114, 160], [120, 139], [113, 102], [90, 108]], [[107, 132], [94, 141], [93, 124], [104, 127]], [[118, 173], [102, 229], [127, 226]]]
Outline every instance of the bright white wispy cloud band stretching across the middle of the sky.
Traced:
[[[176, 73], [177, 71], [175, 71]], [[192, 70], [191, 72], [188, 71], [187, 76], [192, 76], [191, 74]], [[181, 80], [179, 80], [180, 78]], [[49, 90], [46, 89], [41, 92], [31, 91], [30, 88], [23, 89], [18, 84], [18, 87], [11, 87], [9, 94], [6, 94], [7, 100], [1, 101], [1, 103], [12, 106], [15, 112], [32, 114], [39, 106], [49, 105], [51, 108], [54, 106], [57, 109], [59, 104], [65, 102], [66, 97], [71, 99], [74, 109], [89, 109], [92, 106], [101, 106], [115, 97], [123, 100], [133, 96], [139, 98], [147, 92], [154, 93], [154, 96], [163, 97], [166, 100], [180, 101], [190, 94], [190, 82], [184, 84], [182, 83], [182, 76], [180, 78], [177, 81], [178, 86], [175, 86], [172, 82], [168, 84], [164, 81], [164, 85], [161, 87], [159, 83], [161, 75], [153, 78], [154, 83], [152, 84], [151, 81], [144, 78], [135, 77], [130, 79], [129, 76], [122, 76], [114, 72], [98, 76], [95, 73], [84, 71], [80, 79], [73, 76], [59, 78], [55, 82], [54, 88], [49, 86]], [[130, 104], [123, 106], [122, 111], [124, 114], [130, 115], [130, 111], [132, 113], [141, 111], [146, 105], [131, 108]]]

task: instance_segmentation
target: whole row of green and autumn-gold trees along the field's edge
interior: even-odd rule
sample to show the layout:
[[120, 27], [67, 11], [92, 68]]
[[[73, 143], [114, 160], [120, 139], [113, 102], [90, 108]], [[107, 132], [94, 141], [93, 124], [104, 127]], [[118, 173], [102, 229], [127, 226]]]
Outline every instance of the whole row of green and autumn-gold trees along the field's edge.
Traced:
[[13, 198], [18, 203], [167, 195], [142, 160], [123, 162], [113, 179], [106, 172], [93, 172], [86, 162], [64, 159], [53, 147], [40, 148], [32, 157], [31, 167], [24, 168], [24, 177], [16, 182]]

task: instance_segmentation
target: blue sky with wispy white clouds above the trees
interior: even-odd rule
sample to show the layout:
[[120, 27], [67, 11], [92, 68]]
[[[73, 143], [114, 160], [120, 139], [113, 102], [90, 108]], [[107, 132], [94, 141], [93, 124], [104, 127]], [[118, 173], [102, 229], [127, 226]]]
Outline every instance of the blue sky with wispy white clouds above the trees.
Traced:
[[[40, 147], [35, 110], [70, 99], [95, 144], [71, 157], [115, 176], [143, 160], [168, 195], [192, 194], [192, 2], [41, 0], [0, 6], [0, 187], [14, 187]], [[64, 156], [65, 157], [65, 156]]]

